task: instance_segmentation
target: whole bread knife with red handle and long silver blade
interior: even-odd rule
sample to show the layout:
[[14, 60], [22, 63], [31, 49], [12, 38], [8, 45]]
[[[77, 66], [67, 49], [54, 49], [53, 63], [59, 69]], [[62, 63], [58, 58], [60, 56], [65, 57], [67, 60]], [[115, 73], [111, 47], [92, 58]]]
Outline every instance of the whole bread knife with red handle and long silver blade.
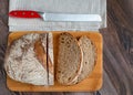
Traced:
[[44, 21], [102, 21], [100, 14], [47, 13], [31, 10], [13, 10], [9, 12], [9, 17], [43, 19]]

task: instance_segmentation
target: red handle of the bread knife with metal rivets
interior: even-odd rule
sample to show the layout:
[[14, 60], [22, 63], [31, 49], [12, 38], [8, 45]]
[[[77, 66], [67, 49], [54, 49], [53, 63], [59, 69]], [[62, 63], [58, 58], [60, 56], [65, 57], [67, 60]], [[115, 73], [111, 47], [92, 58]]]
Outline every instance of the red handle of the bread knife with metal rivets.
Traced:
[[10, 17], [17, 17], [17, 18], [41, 18], [40, 14], [35, 11], [30, 10], [14, 10], [9, 12]]

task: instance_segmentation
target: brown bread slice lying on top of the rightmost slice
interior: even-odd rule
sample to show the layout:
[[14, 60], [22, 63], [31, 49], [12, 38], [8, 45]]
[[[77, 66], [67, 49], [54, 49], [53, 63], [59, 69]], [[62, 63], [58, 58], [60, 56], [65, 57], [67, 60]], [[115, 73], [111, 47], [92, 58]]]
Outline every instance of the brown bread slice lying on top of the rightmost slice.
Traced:
[[76, 39], [70, 33], [59, 36], [59, 53], [57, 64], [57, 80], [60, 84], [70, 85], [80, 73], [82, 53]]

